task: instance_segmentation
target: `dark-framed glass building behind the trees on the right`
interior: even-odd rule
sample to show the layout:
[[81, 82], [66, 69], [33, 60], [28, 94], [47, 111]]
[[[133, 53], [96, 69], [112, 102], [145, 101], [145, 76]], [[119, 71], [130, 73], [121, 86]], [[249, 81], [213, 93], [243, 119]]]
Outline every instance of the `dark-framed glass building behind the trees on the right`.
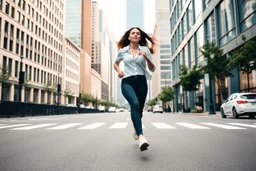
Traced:
[[[256, 37], [256, 2], [232, 0], [172, 0], [170, 1], [172, 86], [175, 90], [174, 111], [193, 109], [200, 105], [209, 110], [209, 77], [205, 75], [196, 92], [183, 92], [179, 84], [180, 65], [192, 68], [201, 64], [204, 57], [200, 48], [207, 41], [214, 41], [224, 52], [224, 57], [232, 58], [232, 51], [242, 44], [241, 35], [247, 40]], [[246, 75], [234, 69], [233, 77], [220, 80], [219, 87], [211, 82], [213, 102], [220, 110], [220, 91], [224, 87], [223, 98], [234, 92], [247, 91]], [[256, 91], [256, 72], [249, 75], [250, 90]], [[183, 98], [184, 96], [184, 98]]]

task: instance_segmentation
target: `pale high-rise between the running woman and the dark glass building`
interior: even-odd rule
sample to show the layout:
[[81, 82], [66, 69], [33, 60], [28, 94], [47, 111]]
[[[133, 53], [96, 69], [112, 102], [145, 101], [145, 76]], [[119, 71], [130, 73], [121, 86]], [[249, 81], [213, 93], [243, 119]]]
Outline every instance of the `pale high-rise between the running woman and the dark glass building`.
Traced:
[[156, 70], [152, 74], [152, 98], [156, 98], [160, 94], [162, 87], [171, 86], [169, 1], [156, 1], [155, 8], [154, 36], [159, 41], [159, 48], [153, 55]]

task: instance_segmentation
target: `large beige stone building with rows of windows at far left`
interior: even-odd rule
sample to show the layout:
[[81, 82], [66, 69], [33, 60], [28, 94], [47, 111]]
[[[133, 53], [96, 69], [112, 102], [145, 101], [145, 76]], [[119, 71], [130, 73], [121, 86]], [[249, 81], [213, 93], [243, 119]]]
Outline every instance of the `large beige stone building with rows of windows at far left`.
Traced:
[[21, 101], [55, 103], [56, 85], [65, 82], [64, 1], [1, 0], [0, 31], [0, 65], [11, 74], [1, 100], [19, 100], [22, 70]]

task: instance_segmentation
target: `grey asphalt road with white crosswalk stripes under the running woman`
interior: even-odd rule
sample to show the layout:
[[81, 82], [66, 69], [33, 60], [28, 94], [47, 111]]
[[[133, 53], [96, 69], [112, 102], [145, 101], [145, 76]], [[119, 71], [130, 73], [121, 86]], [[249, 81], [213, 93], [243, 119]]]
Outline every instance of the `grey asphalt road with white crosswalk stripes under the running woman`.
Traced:
[[255, 171], [256, 119], [128, 113], [0, 119], [1, 171]]

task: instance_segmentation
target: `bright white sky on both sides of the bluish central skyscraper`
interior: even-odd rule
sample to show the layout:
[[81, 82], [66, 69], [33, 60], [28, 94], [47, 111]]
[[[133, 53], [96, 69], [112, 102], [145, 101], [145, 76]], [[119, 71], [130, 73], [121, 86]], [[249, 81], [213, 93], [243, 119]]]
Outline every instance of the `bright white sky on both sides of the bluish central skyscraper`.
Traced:
[[[98, 0], [116, 40], [126, 31], [126, 0]], [[155, 22], [155, 1], [144, 0], [144, 31], [152, 34]]]

